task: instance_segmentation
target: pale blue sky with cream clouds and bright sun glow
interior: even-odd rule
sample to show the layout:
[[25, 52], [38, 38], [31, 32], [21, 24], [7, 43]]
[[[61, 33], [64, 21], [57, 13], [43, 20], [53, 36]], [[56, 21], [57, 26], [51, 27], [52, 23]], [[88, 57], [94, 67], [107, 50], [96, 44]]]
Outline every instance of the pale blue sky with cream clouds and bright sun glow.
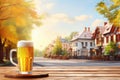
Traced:
[[57, 36], [69, 36], [72, 32], [82, 32], [90, 27], [107, 21], [96, 11], [96, 4], [101, 0], [34, 0], [38, 14], [43, 15], [42, 25], [33, 25], [32, 40], [38, 50], [43, 50]]

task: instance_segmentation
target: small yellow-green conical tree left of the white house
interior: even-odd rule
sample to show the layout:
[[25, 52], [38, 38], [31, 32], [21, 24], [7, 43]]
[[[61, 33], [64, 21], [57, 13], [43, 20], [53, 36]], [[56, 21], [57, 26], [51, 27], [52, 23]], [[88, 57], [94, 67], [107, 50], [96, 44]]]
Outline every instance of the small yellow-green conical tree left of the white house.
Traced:
[[55, 41], [55, 46], [53, 48], [53, 54], [55, 55], [61, 55], [62, 54], [62, 43], [61, 43], [61, 38], [57, 37]]

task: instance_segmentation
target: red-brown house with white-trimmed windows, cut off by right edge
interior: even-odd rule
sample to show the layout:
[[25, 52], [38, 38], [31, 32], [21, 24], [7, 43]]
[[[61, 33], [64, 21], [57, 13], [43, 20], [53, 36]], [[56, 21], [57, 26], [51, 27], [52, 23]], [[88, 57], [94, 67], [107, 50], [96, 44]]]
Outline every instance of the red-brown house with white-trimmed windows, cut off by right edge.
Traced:
[[120, 54], [120, 27], [114, 26], [113, 24], [107, 23], [105, 25], [106, 29], [103, 33], [104, 35], [104, 43], [105, 47], [110, 42], [115, 42], [118, 47], [117, 54]]

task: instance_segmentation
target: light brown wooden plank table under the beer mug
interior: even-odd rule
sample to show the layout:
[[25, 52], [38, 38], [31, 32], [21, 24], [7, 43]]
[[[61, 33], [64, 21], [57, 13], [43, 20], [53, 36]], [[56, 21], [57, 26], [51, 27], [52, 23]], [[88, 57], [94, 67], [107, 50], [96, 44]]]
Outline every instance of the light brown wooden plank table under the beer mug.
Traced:
[[5, 74], [15, 74], [16, 67], [0, 67], [0, 80], [120, 80], [120, 67], [80, 66], [80, 67], [39, 67], [33, 73], [48, 73], [49, 77], [16, 79], [6, 78]]

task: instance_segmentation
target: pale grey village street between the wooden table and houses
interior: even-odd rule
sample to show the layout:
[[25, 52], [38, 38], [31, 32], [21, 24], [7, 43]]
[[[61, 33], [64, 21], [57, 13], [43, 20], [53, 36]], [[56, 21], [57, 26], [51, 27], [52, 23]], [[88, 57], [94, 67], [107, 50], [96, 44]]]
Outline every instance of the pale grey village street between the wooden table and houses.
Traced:
[[54, 66], [120, 66], [120, 61], [94, 61], [85, 59], [47, 59], [43, 57], [35, 57], [34, 65], [41, 67], [54, 67]]

